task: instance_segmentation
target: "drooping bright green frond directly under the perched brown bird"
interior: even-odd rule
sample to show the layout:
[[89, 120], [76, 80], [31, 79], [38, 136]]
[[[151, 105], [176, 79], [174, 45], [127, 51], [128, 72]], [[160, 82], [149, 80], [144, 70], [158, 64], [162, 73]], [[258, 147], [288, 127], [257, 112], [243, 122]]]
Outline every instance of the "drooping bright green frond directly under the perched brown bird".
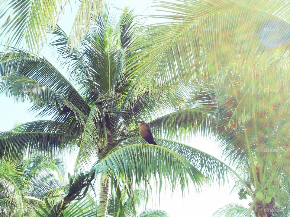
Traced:
[[181, 189], [191, 180], [198, 188], [204, 176], [187, 159], [161, 146], [134, 144], [122, 147], [101, 159], [97, 165], [103, 172], [111, 171], [124, 177], [126, 183], [137, 185], [150, 183], [150, 178], [162, 186], [163, 179], [172, 189], [179, 183]]

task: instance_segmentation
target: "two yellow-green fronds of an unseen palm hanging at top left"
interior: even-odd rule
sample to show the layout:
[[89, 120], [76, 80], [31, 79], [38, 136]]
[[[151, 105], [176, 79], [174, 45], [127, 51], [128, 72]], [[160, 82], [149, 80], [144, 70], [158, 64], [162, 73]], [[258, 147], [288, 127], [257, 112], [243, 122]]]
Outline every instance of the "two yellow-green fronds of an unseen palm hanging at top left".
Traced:
[[[0, 18], [3, 17], [5, 22], [1, 24], [0, 37], [4, 38], [6, 46], [22, 47], [24, 44], [31, 53], [39, 52], [40, 46], [47, 40], [47, 33], [55, 30], [67, 4], [71, 3], [62, 0], [1, 0]], [[69, 35], [72, 45], [79, 43], [104, 4], [102, 0], [82, 0], [79, 3]]]

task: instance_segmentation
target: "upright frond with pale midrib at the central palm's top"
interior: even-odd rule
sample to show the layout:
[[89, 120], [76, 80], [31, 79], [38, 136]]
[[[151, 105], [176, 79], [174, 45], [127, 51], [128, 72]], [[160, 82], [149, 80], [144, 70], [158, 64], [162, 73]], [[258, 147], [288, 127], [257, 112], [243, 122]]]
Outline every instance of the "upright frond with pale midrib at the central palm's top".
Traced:
[[84, 43], [84, 55], [89, 65], [89, 75], [94, 92], [111, 92], [122, 79], [124, 48], [120, 45], [122, 19], [110, 24], [107, 11], [103, 11], [96, 30], [89, 32]]

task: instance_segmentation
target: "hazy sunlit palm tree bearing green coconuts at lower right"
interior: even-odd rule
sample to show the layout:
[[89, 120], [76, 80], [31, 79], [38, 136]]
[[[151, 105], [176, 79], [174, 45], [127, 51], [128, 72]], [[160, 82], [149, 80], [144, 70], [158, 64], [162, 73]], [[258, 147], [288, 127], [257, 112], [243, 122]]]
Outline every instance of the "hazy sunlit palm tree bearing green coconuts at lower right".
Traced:
[[[242, 174], [243, 183], [240, 180], [236, 187], [241, 188], [240, 199], [249, 195], [253, 200], [249, 208], [229, 204], [216, 215], [246, 216], [252, 210], [252, 215], [257, 217], [286, 215], [289, 212], [289, 115], [283, 112], [280, 93], [275, 92], [269, 93], [271, 100], [264, 102], [261, 110], [252, 108], [256, 110], [253, 117], [249, 115], [246, 120], [233, 121], [240, 118], [240, 109], [245, 103], [255, 100], [257, 103], [253, 106], [261, 105], [259, 91], [249, 94], [247, 88], [252, 86], [249, 84], [243, 89], [223, 86], [207, 93], [196, 91], [192, 96], [195, 105], [216, 114], [217, 138], [224, 149], [223, 155], [237, 165], [236, 171]], [[276, 213], [269, 210], [276, 210]]]

